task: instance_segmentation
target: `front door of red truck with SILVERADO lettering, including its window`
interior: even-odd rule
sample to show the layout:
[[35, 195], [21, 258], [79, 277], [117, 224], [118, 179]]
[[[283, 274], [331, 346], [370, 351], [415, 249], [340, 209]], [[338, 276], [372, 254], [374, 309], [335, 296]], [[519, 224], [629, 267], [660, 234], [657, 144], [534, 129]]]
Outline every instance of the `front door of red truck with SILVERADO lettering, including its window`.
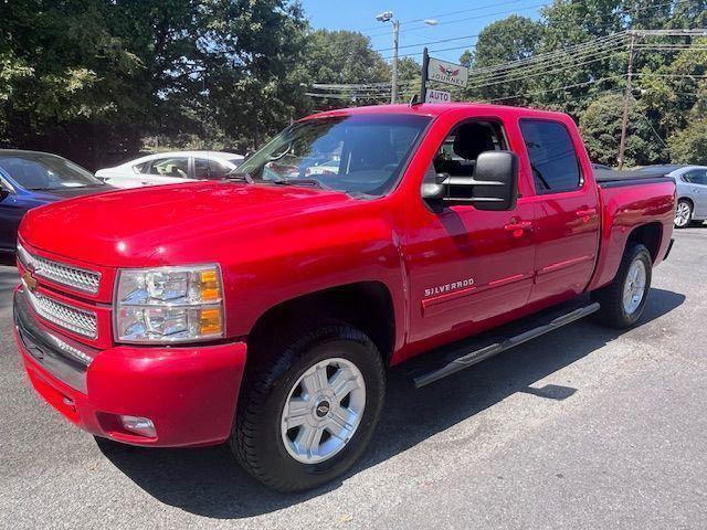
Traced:
[[[425, 179], [472, 177], [481, 152], [502, 149], [509, 149], [502, 123], [464, 120], [449, 131]], [[535, 252], [535, 206], [528, 199], [518, 199], [511, 211], [463, 204], [424, 208], [420, 218], [410, 216], [415, 225], [405, 255], [413, 350], [481, 330], [527, 303]]]

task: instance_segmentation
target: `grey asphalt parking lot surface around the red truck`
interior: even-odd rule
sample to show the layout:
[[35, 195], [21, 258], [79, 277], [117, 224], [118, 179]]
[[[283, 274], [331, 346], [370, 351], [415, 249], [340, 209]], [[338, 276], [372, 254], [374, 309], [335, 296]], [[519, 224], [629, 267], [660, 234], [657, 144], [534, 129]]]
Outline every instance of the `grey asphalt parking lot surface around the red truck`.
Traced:
[[0, 267], [0, 528], [705, 528], [707, 226], [675, 237], [636, 328], [574, 324], [419, 391], [395, 370], [365, 458], [294, 496], [224, 447], [102, 451], [31, 390]]

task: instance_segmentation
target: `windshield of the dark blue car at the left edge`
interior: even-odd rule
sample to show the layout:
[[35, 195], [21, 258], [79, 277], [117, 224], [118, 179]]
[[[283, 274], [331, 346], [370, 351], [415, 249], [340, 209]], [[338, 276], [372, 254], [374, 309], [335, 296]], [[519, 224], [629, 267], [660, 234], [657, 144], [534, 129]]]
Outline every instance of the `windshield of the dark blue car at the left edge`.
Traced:
[[55, 155], [42, 152], [3, 155], [0, 156], [0, 168], [27, 190], [103, 186], [103, 182], [81, 166]]

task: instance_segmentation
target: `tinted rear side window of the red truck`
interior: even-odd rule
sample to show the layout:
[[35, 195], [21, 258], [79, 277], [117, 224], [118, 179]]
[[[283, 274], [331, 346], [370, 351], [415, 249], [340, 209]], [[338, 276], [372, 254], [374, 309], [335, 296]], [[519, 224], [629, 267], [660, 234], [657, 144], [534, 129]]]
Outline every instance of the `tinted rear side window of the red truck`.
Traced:
[[556, 121], [520, 121], [538, 194], [572, 191], [582, 187], [579, 159], [569, 131]]

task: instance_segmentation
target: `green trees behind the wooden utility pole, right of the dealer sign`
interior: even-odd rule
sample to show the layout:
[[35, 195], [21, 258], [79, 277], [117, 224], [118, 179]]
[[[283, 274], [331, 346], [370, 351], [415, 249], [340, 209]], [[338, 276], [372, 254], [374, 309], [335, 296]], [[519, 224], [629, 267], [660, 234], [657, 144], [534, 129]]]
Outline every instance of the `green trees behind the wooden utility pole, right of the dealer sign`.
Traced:
[[[629, 49], [591, 43], [631, 29], [706, 26], [707, 0], [555, 0], [541, 10], [539, 21], [511, 15], [489, 24], [476, 50], [464, 52], [461, 62], [482, 68], [540, 53], [552, 53], [552, 59], [503, 82], [483, 70], [476, 75], [472, 71], [475, 83], [465, 97], [569, 113], [588, 134], [593, 159], [614, 165]], [[579, 54], [563, 51], [583, 43], [589, 47]], [[640, 44], [644, 46], [634, 55], [627, 163], [665, 162], [678, 151], [683, 159], [687, 152], [697, 156], [695, 123], [707, 116], [707, 39], [648, 36]], [[668, 137], [669, 150], [664, 144]]]

